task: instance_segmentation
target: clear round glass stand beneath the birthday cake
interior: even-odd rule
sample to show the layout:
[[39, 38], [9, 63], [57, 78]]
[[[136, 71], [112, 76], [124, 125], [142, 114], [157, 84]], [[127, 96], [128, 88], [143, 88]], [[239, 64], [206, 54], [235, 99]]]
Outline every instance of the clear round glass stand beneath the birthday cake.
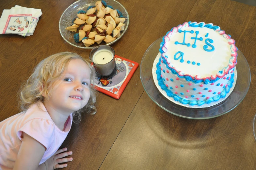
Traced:
[[157, 54], [159, 53], [162, 38], [153, 42], [145, 52], [140, 64], [140, 80], [149, 97], [162, 109], [167, 112], [190, 119], [208, 119], [224, 115], [233, 110], [246, 96], [251, 74], [246, 58], [238, 49], [237, 51], [237, 81], [232, 93], [224, 101], [206, 108], [187, 108], [173, 103], [165, 98], [157, 89], [153, 76], [152, 67]]

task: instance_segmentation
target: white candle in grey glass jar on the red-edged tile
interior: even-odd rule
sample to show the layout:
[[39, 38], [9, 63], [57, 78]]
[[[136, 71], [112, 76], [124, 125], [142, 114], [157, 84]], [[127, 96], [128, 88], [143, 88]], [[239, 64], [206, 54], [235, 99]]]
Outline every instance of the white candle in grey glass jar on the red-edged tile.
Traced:
[[106, 45], [100, 45], [92, 49], [90, 59], [98, 77], [110, 78], [116, 74], [117, 67], [114, 56], [114, 49]]

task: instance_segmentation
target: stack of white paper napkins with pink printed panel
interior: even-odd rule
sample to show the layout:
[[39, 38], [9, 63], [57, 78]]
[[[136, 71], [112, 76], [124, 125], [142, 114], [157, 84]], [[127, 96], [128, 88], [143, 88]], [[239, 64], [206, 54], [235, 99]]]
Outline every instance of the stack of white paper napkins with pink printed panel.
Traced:
[[41, 9], [25, 8], [16, 5], [11, 9], [4, 9], [0, 18], [0, 34], [33, 35]]

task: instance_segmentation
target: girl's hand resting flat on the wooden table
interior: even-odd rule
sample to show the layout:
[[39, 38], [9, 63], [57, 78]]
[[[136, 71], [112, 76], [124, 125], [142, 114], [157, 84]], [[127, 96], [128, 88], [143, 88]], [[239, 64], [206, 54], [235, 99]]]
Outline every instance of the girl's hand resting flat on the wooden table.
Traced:
[[[64, 168], [67, 167], [68, 164], [61, 164], [59, 165], [58, 163], [63, 163], [63, 162], [70, 162], [73, 160], [73, 158], [63, 158], [65, 156], [69, 156], [72, 155], [72, 151], [69, 152], [64, 152], [67, 151], [68, 148], [62, 148], [56, 151], [56, 153], [49, 158], [47, 161], [45, 161], [45, 166], [47, 170], [53, 170], [53, 169], [57, 169], [57, 168]], [[63, 152], [63, 153], [62, 153]]]

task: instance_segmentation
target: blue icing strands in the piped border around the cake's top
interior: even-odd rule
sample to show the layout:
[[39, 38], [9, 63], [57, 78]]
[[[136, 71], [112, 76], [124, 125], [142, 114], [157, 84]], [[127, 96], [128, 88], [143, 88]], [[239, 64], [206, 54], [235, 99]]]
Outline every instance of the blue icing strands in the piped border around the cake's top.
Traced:
[[[180, 25], [181, 25], [181, 24], [180, 24]], [[177, 27], [179, 27], [180, 25], [178, 25]], [[191, 26], [191, 27], [201, 27], [201, 28], [202, 28], [202, 27], [207, 27], [207, 28], [211, 28], [211, 29], [214, 29], [214, 30], [220, 28], [219, 26], [213, 25], [212, 23], [208, 23], [208, 24], [195, 23], [195, 22], [192, 23], [191, 21], [188, 22], [188, 25]], [[167, 36], [168, 33], [171, 32], [173, 28], [174, 28], [174, 27], [172, 27], [171, 30], [168, 31], [165, 36]], [[223, 31], [223, 30], [219, 29], [218, 31]], [[163, 39], [162, 39], [163, 41], [160, 43], [160, 49], [159, 49], [159, 51], [160, 51], [160, 53], [161, 53], [161, 57], [162, 57], [162, 54], [164, 53], [164, 51], [162, 50], [162, 47], [163, 47], [163, 45], [165, 44], [165, 36], [164, 36]], [[237, 49], [237, 47], [236, 47], [236, 49]], [[166, 56], [166, 57], [168, 58], [168, 56]], [[167, 67], [169, 70], [171, 70], [172, 74], [177, 74], [177, 76], [178, 76], [179, 78], [184, 78], [184, 79], [186, 79], [186, 81], [188, 81], [188, 82], [193, 82], [193, 83], [200, 83], [200, 82], [203, 82], [205, 85], [207, 85], [208, 83], [214, 83], [214, 82], [216, 82], [216, 81], [218, 81], [218, 80], [220, 79], [219, 77], [216, 77], [216, 79], [212, 80], [211, 77], [209, 77], [210, 79], [196, 80], [196, 79], [193, 79], [191, 76], [187, 76], [187, 75], [180, 76], [180, 75], [178, 74], [178, 72], [177, 72], [175, 69], [170, 68], [170, 67], [168, 66], [168, 64], [166, 63], [166, 60], [163, 60], [163, 62], [164, 62], [164, 64], [166, 65], [166, 67]], [[231, 70], [229, 70], [229, 71], [231, 71]], [[221, 71], [220, 71], [220, 72], [221, 72]]]

